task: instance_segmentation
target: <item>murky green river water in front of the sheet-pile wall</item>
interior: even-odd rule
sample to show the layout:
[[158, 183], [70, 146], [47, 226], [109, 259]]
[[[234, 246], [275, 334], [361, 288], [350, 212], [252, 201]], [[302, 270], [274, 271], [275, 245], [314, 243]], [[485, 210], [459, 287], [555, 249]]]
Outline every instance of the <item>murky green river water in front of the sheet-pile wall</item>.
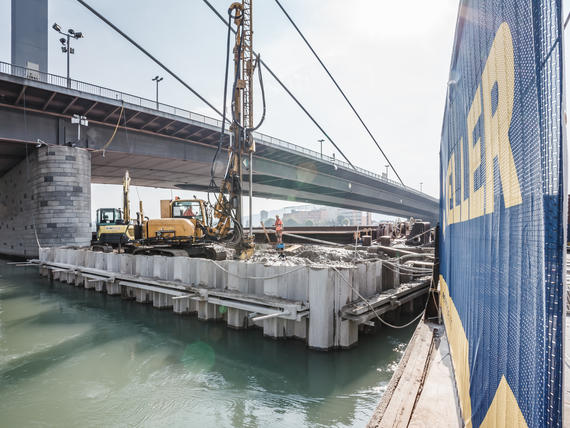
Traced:
[[0, 426], [361, 427], [412, 332], [311, 351], [0, 261]]

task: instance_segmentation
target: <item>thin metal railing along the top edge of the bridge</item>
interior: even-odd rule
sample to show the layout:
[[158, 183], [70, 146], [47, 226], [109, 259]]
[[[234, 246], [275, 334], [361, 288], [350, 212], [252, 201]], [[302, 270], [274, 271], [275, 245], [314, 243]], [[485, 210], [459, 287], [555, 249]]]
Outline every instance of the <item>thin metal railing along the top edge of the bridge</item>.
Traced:
[[[222, 126], [222, 121], [209, 116], [205, 116], [200, 113], [194, 113], [189, 110], [185, 110], [179, 107], [171, 106], [169, 104], [157, 103], [156, 101], [150, 100], [148, 98], [139, 97], [137, 95], [128, 94], [121, 91], [116, 91], [114, 89], [105, 88], [103, 86], [93, 85], [91, 83], [82, 82], [80, 80], [67, 79], [64, 76], [59, 76], [57, 74], [46, 73], [43, 71], [33, 70], [26, 67], [21, 67], [18, 65], [9, 64], [0, 61], [0, 73], [9, 74], [11, 76], [17, 76], [24, 79], [34, 80], [37, 82], [47, 83], [49, 85], [55, 85], [62, 88], [73, 89], [80, 92], [85, 92], [92, 95], [98, 95], [105, 98], [110, 98], [116, 101], [122, 101], [124, 103], [132, 104], [134, 106], [140, 106], [152, 110], [158, 110], [164, 113], [179, 116], [185, 119], [190, 119], [199, 123], [204, 123], [210, 126], [220, 127]], [[254, 138], [263, 144], [273, 146], [276, 148], [286, 149], [293, 153], [302, 153], [305, 156], [309, 156], [315, 160], [322, 162], [328, 162], [338, 168], [343, 168], [349, 171], [354, 171], [354, 169], [345, 161], [333, 158], [328, 155], [321, 155], [311, 149], [299, 146], [297, 144], [290, 143], [288, 141], [281, 140], [279, 138], [271, 137], [270, 135], [262, 134], [260, 132], [254, 132]], [[375, 180], [384, 181], [390, 183], [394, 186], [402, 187], [406, 191], [416, 193], [422, 196], [428, 196], [411, 187], [403, 186], [400, 182], [391, 180], [384, 175], [377, 174], [368, 171], [364, 168], [355, 167], [356, 172], [365, 175], [367, 177], [373, 178]]]

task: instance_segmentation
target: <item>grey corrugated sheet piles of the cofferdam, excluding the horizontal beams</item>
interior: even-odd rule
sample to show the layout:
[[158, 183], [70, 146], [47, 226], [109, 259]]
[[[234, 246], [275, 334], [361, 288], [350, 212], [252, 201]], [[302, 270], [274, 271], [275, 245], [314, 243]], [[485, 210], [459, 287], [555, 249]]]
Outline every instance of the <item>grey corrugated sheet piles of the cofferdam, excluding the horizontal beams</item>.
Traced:
[[[295, 337], [306, 341], [312, 349], [349, 348], [358, 341], [358, 324], [342, 318], [341, 309], [358, 300], [358, 293], [375, 294], [382, 289], [382, 262], [370, 262], [363, 268], [332, 268], [312, 266], [271, 266], [226, 260], [188, 257], [134, 256], [130, 254], [93, 252], [86, 249], [43, 248], [40, 260], [44, 263], [62, 263], [66, 268], [93, 268], [106, 271], [115, 279], [105, 284], [108, 294], [122, 295], [138, 303], [153, 304], [157, 308], [173, 308], [176, 313], [197, 313], [203, 320], [224, 320], [231, 328], [260, 327], [265, 336], [274, 339]], [[91, 271], [92, 272], [92, 271]], [[125, 284], [122, 289], [113, 273], [134, 275], [141, 279], [172, 281], [176, 285], [192, 285], [208, 297], [173, 299], [167, 293]], [[65, 275], [56, 273], [56, 276]], [[60, 279], [61, 280], [61, 279]], [[69, 278], [64, 281], [69, 282]], [[72, 281], [73, 282], [73, 281]], [[75, 283], [77, 283], [75, 281]], [[85, 288], [102, 288], [103, 282], [87, 279]], [[252, 321], [249, 315], [259, 309], [231, 307], [227, 301], [216, 300], [216, 291], [232, 292], [231, 299], [244, 298], [242, 303], [296, 305], [302, 302], [308, 317], [270, 318]], [[235, 294], [233, 294], [235, 293]], [[253, 299], [252, 299], [253, 297]], [[225, 307], [228, 305], [228, 307]]]

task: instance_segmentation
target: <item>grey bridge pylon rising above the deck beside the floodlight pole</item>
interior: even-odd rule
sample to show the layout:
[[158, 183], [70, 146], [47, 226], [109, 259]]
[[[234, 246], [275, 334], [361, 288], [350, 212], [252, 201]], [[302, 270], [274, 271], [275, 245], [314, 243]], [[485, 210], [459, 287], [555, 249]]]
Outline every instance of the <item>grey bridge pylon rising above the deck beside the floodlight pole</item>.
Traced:
[[12, 64], [47, 72], [48, 29], [48, 0], [12, 0]]

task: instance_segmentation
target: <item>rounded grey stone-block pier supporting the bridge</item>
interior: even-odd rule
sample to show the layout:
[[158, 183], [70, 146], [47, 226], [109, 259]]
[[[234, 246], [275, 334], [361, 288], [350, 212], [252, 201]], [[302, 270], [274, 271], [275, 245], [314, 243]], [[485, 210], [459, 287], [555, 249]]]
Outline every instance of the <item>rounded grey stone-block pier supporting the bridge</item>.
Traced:
[[37, 257], [41, 247], [91, 240], [91, 159], [67, 146], [30, 149], [0, 177], [0, 254]]

